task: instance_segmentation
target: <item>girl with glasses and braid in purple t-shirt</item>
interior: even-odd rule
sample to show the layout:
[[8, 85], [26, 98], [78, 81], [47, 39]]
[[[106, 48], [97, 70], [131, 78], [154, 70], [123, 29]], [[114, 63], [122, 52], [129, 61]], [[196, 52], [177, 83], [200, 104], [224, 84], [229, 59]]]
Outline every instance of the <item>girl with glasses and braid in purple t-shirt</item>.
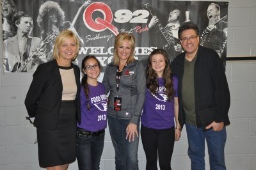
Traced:
[[81, 125], [77, 123], [76, 157], [79, 169], [100, 169], [107, 127], [106, 91], [97, 81], [100, 62], [95, 56], [82, 61]]

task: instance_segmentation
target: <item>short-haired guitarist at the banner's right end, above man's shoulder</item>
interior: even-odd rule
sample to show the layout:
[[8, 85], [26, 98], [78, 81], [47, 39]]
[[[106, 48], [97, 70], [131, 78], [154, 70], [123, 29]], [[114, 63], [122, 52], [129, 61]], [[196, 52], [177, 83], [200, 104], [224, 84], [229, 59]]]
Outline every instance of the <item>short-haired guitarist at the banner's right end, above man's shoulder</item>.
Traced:
[[207, 9], [207, 17], [209, 19], [209, 25], [205, 28], [200, 45], [214, 49], [220, 58], [223, 60], [223, 52], [227, 52], [227, 29], [228, 22], [220, 19], [220, 6], [215, 3], [211, 3]]

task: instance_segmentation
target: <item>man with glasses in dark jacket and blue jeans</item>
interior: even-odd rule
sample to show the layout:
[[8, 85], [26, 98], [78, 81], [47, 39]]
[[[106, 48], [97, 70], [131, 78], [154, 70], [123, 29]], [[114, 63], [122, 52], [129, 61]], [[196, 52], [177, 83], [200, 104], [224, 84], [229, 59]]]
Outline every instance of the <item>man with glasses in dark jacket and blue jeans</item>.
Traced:
[[185, 52], [172, 62], [172, 72], [179, 79], [179, 122], [186, 125], [191, 169], [205, 169], [205, 139], [210, 169], [226, 169], [225, 125], [230, 124], [230, 93], [218, 54], [199, 45], [199, 29], [185, 22], [179, 29]]

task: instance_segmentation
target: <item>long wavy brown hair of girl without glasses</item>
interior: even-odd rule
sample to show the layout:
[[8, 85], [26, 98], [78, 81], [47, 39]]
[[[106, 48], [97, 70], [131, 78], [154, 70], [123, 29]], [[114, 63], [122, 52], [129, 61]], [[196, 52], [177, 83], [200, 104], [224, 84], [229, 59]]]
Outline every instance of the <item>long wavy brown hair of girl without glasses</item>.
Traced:
[[174, 96], [173, 90], [173, 79], [172, 79], [172, 71], [170, 69], [170, 61], [168, 59], [168, 54], [163, 49], [156, 49], [151, 52], [148, 58], [148, 65], [146, 68], [146, 76], [147, 76], [147, 88], [152, 94], [158, 94], [157, 89], [159, 89], [159, 83], [157, 81], [157, 73], [152, 68], [152, 56], [155, 54], [162, 54], [164, 56], [165, 68], [163, 70], [163, 79], [165, 86], [165, 94], [168, 97], [168, 101], [172, 99]]

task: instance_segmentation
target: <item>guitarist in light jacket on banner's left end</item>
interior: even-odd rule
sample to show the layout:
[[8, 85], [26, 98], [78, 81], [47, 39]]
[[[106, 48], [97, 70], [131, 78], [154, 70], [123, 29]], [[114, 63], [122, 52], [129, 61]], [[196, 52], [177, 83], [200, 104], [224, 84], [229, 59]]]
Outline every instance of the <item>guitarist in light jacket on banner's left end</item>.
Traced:
[[17, 72], [20, 66], [25, 67], [19, 72], [35, 72], [37, 66], [47, 60], [44, 49], [38, 50], [41, 39], [29, 36], [33, 29], [33, 20], [26, 13], [17, 12], [13, 15], [12, 22], [17, 35], [3, 42], [4, 72]]

